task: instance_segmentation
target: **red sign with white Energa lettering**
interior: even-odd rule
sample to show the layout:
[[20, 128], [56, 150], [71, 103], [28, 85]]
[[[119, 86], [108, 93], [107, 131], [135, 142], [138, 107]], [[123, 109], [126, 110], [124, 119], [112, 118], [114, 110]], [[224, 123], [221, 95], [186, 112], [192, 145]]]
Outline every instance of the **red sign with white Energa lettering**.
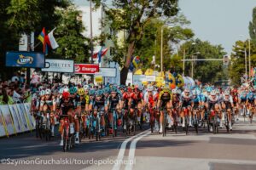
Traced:
[[95, 74], [99, 72], [99, 65], [75, 64], [75, 74]]

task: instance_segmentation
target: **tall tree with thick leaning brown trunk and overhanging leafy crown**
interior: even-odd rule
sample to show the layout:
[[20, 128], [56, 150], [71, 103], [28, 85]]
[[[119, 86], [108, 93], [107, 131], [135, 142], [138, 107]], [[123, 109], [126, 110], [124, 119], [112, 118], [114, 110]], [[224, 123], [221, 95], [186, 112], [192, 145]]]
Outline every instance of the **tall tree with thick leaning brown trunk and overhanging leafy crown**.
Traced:
[[113, 8], [107, 8], [105, 1], [96, 0], [105, 7], [110, 27], [113, 31], [126, 31], [127, 43], [125, 65], [121, 71], [121, 84], [125, 84], [131, 56], [136, 49], [136, 42], [143, 37], [143, 31], [148, 21], [156, 16], [172, 17], [177, 14], [177, 0], [113, 0]]

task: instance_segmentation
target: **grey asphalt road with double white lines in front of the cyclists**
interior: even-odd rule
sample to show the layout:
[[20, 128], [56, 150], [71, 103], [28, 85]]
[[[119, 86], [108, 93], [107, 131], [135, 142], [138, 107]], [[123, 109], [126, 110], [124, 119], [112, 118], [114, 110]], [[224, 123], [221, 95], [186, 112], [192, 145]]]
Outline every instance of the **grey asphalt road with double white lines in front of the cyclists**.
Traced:
[[34, 132], [0, 139], [0, 169], [256, 169], [256, 120], [218, 134], [180, 129], [162, 137], [144, 127], [136, 136], [83, 139], [66, 153], [59, 142], [59, 136], [46, 142]]

